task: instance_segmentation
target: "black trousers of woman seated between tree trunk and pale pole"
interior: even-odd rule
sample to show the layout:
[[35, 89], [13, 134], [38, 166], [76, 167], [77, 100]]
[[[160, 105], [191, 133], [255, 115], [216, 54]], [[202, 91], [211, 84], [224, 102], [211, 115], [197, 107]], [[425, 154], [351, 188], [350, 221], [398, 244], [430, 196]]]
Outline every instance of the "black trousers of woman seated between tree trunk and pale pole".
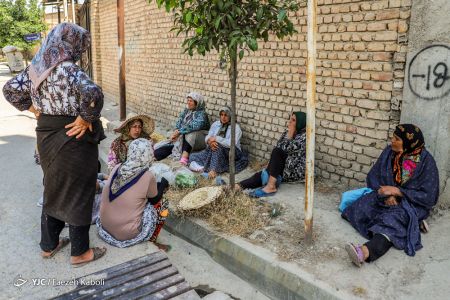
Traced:
[[[269, 165], [267, 171], [269, 175], [277, 178], [283, 176], [284, 166], [286, 165], [287, 153], [278, 147], [273, 148], [270, 155]], [[261, 172], [253, 174], [250, 178], [242, 180], [239, 185], [243, 189], [256, 189], [262, 186]]]

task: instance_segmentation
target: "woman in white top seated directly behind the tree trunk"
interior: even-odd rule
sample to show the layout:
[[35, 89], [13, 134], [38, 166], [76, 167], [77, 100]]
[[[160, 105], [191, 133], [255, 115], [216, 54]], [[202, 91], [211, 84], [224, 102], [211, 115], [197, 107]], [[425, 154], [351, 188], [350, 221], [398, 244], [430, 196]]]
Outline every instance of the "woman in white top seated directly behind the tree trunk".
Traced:
[[[240, 139], [241, 127], [236, 124], [236, 172], [240, 172], [248, 165], [248, 158], [241, 150]], [[214, 122], [205, 138], [206, 149], [193, 153], [189, 162], [194, 171], [209, 172], [209, 178], [215, 178], [217, 174], [227, 172], [229, 169], [229, 158], [231, 145], [231, 110], [223, 107], [220, 110], [220, 120]]]

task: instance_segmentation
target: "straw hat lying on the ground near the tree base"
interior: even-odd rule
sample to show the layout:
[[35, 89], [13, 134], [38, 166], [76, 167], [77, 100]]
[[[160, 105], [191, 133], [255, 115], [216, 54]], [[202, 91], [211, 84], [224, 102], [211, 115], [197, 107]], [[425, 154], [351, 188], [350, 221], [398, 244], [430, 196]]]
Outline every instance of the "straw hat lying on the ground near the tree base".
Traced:
[[178, 203], [181, 210], [197, 209], [217, 200], [222, 195], [220, 186], [206, 186], [190, 192]]

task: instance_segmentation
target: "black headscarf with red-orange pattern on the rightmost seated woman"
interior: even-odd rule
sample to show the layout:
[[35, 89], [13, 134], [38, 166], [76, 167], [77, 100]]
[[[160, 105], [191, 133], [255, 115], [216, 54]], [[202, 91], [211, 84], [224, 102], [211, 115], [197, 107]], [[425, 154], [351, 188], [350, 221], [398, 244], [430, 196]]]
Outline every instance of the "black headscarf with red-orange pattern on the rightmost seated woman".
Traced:
[[411, 178], [420, 162], [420, 154], [425, 146], [425, 140], [420, 128], [413, 124], [398, 125], [394, 135], [402, 140], [403, 152], [397, 153], [393, 157], [392, 173], [395, 183], [403, 185]]

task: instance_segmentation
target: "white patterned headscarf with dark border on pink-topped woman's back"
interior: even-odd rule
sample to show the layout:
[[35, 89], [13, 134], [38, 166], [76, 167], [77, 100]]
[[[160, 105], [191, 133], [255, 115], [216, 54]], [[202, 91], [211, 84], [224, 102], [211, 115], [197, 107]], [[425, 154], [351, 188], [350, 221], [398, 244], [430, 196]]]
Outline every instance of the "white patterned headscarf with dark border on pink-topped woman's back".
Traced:
[[127, 160], [117, 168], [111, 179], [109, 201], [113, 201], [135, 184], [153, 162], [152, 144], [146, 139], [135, 139], [128, 147]]

